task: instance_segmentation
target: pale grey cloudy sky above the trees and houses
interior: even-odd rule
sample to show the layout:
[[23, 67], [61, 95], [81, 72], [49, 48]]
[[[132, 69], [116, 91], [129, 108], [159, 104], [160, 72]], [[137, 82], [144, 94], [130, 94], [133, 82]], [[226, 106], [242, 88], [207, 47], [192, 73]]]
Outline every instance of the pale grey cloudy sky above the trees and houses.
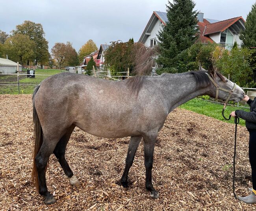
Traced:
[[[246, 19], [255, 0], [195, 0], [204, 18]], [[153, 11], [166, 11], [167, 0], [0, 0], [0, 30], [9, 33], [24, 20], [41, 23], [49, 42], [70, 41], [78, 51], [89, 39], [97, 46], [138, 41]]]

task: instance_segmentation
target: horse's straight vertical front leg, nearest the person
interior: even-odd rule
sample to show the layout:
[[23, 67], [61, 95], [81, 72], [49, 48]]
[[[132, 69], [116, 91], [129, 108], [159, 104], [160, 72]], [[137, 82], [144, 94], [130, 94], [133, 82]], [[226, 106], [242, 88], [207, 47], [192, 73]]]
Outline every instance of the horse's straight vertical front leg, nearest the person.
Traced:
[[146, 168], [146, 189], [150, 191], [152, 198], [159, 198], [158, 192], [154, 189], [152, 184], [152, 167], [153, 167], [153, 155], [154, 147], [156, 143], [156, 135], [143, 136], [144, 140], [144, 157], [145, 157], [145, 168]]

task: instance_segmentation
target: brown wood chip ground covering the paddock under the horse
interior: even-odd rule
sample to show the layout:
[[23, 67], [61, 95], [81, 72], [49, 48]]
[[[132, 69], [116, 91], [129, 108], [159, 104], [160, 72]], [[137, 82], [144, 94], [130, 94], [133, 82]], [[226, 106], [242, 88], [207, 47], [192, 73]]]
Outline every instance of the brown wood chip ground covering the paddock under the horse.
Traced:
[[[143, 144], [129, 173], [130, 186], [123, 188], [119, 180], [129, 138], [98, 138], [75, 128], [66, 158], [81, 185], [69, 184], [52, 155], [46, 180], [57, 203], [45, 205], [30, 178], [31, 98], [0, 95], [0, 210], [256, 210], [232, 195], [234, 125], [178, 108], [155, 147], [152, 172], [159, 199], [145, 190]], [[245, 127], [238, 126], [237, 139], [236, 193], [247, 195], [252, 184]]]

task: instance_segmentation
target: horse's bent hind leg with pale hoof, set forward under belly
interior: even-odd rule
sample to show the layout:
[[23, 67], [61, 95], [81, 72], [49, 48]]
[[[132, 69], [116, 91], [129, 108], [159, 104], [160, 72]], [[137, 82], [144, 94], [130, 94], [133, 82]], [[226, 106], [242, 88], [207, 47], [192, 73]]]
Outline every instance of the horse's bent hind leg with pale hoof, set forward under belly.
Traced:
[[78, 181], [76, 176], [74, 176], [73, 172], [69, 167], [69, 164], [67, 163], [67, 160], [65, 159], [65, 151], [66, 151], [67, 143], [69, 142], [70, 136], [75, 127], [76, 125], [71, 125], [67, 129], [66, 133], [61, 137], [61, 139], [57, 143], [53, 153], [56, 156], [57, 160], [59, 161], [59, 164], [61, 165], [66, 175], [66, 178], [70, 180], [70, 184], [74, 186], [78, 186], [80, 185], [80, 182]]

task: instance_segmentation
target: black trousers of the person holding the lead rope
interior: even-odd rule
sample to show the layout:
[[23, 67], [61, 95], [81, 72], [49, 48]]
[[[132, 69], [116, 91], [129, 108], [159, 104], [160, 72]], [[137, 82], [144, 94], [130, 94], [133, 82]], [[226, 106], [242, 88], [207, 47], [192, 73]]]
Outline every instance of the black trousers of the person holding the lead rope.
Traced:
[[256, 130], [249, 130], [249, 160], [252, 168], [252, 188], [256, 190]]

